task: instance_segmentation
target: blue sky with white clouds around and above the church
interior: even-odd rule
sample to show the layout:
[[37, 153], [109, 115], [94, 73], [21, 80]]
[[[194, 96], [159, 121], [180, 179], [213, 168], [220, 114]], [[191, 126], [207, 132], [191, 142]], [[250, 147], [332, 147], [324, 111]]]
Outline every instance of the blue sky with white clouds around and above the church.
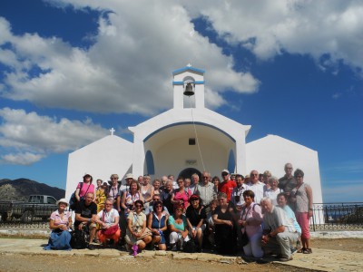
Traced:
[[69, 152], [112, 127], [132, 141], [191, 63], [248, 142], [318, 151], [324, 201], [362, 201], [363, 3], [190, 2], [1, 1], [0, 179], [64, 189]]

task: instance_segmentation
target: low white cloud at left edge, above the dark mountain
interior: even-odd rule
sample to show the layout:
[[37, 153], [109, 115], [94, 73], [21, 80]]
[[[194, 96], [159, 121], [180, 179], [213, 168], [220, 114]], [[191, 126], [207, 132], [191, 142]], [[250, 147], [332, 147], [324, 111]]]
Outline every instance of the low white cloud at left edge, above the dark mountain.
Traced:
[[50, 153], [74, 151], [109, 134], [91, 120], [56, 120], [36, 112], [0, 109], [2, 162], [29, 164]]

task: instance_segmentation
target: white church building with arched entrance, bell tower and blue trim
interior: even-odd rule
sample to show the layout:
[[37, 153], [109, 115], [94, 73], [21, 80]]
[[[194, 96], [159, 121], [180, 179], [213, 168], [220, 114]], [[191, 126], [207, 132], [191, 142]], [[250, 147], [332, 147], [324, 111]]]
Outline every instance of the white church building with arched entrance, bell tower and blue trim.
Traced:
[[[68, 199], [85, 173], [108, 181], [111, 174], [152, 179], [173, 174], [190, 177], [203, 170], [220, 176], [221, 170], [246, 175], [270, 170], [282, 177], [284, 165], [305, 172], [315, 203], [322, 202], [318, 152], [276, 135], [246, 142], [250, 125], [240, 124], [204, 105], [204, 71], [190, 65], [172, 73], [173, 107], [129, 127], [133, 142], [113, 134], [69, 154]], [[187, 95], [185, 95], [185, 93]], [[124, 182], [124, 180], [123, 180]]]

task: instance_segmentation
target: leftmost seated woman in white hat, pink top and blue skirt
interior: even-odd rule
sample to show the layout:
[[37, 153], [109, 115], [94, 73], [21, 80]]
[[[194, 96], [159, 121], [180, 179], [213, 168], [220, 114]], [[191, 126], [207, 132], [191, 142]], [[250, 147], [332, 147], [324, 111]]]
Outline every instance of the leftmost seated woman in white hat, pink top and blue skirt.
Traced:
[[72, 236], [69, 232], [72, 226], [71, 212], [65, 210], [68, 202], [66, 199], [59, 199], [57, 206], [58, 209], [51, 214], [49, 228], [52, 229], [52, 232], [48, 240], [48, 245], [44, 249], [72, 250], [70, 245]]

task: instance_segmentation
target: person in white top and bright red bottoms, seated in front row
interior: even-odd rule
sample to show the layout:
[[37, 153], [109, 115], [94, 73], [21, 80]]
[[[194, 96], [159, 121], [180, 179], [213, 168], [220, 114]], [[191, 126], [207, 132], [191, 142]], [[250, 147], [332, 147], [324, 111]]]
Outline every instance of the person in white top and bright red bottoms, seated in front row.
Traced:
[[101, 227], [100, 231], [97, 233], [98, 239], [103, 243], [103, 247], [106, 246], [107, 239], [113, 239], [114, 246], [117, 246], [121, 235], [119, 219], [118, 211], [113, 209], [113, 199], [107, 199], [104, 204], [104, 209], [96, 216], [96, 222]]

